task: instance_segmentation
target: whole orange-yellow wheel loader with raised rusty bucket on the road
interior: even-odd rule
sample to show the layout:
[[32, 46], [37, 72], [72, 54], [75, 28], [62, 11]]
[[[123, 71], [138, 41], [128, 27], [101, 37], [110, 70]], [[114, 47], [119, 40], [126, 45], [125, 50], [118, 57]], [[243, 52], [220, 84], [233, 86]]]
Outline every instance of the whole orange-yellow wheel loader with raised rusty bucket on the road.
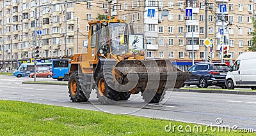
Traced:
[[89, 25], [86, 53], [75, 54], [70, 62], [72, 102], [87, 102], [93, 89], [101, 104], [127, 100], [140, 92], [145, 102], [160, 102], [168, 88], [180, 88], [191, 76], [170, 60], [146, 59], [144, 51], [129, 52], [124, 20], [92, 21]]

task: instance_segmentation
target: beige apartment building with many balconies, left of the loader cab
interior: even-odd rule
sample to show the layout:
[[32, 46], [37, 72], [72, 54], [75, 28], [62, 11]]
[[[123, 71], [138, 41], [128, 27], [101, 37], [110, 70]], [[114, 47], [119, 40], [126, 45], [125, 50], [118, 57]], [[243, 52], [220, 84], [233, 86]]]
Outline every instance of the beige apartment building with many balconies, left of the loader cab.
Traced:
[[106, 9], [108, 4], [93, 1], [0, 1], [1, 64], [10, 67], [13, 60], [13, 67], [17, 67], [22, 62], [30, 62], [35, 48], [35, 30], [40, 59], [77, 53], [77, 35], [80, 53], [84, 41], [88, 40], [88, 22], [98, 14], [107, 14]]

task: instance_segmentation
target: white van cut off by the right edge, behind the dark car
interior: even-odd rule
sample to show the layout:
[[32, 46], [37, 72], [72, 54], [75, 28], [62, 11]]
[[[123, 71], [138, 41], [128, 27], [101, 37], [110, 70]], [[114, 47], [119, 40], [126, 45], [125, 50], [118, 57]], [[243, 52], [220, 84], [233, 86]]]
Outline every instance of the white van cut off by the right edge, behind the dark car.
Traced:
[[256, 52], [242, 53], [227, 73], [226, 86], [252, 88], [256, 90]]

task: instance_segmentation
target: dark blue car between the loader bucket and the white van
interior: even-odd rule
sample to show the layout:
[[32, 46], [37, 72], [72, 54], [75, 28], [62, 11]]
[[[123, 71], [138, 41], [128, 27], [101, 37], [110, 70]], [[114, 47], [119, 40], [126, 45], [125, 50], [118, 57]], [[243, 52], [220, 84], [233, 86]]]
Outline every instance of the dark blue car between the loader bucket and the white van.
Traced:
[[187, 79], [184, 85], [197, 85], [199, 88], [207, 88], [211, 85], [226, 88], [225, 78], [230, 70], [227, 64], [200, 62], [187, 71], [191, 71], [191, 77]]

